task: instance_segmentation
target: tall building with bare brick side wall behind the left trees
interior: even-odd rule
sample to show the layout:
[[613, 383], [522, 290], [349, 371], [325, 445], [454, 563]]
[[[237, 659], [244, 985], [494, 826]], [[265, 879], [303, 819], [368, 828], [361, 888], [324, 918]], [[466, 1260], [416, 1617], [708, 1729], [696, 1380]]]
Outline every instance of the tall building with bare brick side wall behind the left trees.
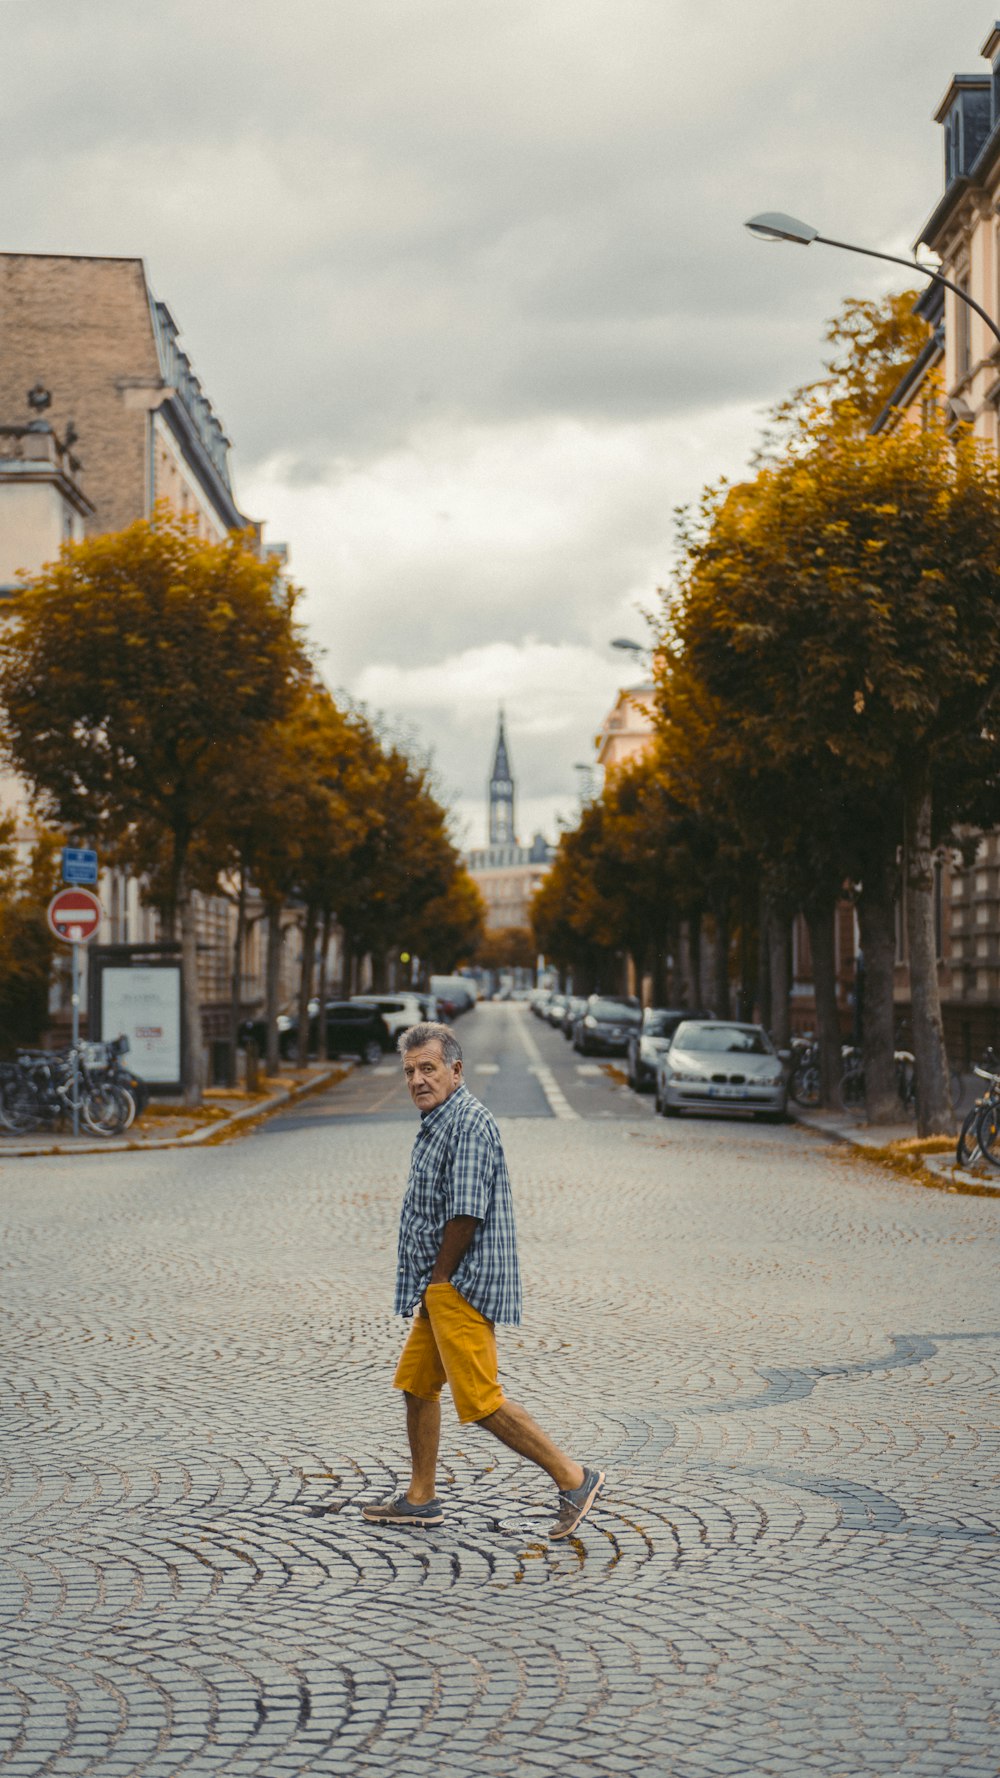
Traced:
[[[258, 549], [285, 560], [283, 546], [265, 546], [260, 523], [237, 505], [230, 439], [142, 260], [0, 254], [0, 599], [18, 571], [36, 573], [64, 541], [121, 530], [149, 517], [157, 501], [189, 514], [206, 539], [249, 532]], [[2, 800], [23, 807], [9, 775]], [[158, 937], [139, 891], [135, 880], [103, 873], [100, 942]], [[263, 996], [263, 923], [254, 912], [242, 957], [247, 1010]], [[206, 1042], [226, 1031], [233, 935], [231, 903], [199, 898]], [[283, 1003], [292, 1001], [297, 969], [290, 916]]]

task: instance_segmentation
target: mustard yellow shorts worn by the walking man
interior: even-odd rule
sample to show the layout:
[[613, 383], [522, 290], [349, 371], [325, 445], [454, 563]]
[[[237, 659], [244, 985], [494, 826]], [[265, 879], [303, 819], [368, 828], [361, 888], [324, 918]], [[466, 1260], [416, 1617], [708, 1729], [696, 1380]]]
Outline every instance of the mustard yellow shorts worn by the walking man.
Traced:
[[484, 1421], [504, 1401], [493, 1321], [466, 1303], [454, 1284], [429, 1284], [425, 1303], [427, 1314], [413, 1317], [393, 1387], [436, 1401], [447, 1383], [463, 1426]]

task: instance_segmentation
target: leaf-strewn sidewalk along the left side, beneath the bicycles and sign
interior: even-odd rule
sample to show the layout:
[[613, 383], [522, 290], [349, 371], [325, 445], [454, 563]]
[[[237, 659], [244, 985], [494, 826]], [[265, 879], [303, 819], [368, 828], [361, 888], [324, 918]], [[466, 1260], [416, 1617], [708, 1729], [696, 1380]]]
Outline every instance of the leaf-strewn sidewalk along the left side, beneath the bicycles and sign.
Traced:
[[253, 1095], [242, 1088], [210, 1086], [205, 1102], [194, 1109], [174, 1099], [153, 1099], [123, 1136], [101, 1138], [91, 1131], [80, 1131], [78, 1136], [69, 1131], [37, 1131], [30, 1136], [0, 1133], [0, 1163], [43, 1154], [114, 1154], [123, 1149], [189, 1149], [226, 1141], [231, 1136], [244, 1136], [262, 1118], [272, 1117], [292, 1101], [343, 1079], [352, 1067], [352, 1061], [338, 1058], [306, 1069], [288, 1069], [279, 1079], [262, 1077], [262, 1092]]

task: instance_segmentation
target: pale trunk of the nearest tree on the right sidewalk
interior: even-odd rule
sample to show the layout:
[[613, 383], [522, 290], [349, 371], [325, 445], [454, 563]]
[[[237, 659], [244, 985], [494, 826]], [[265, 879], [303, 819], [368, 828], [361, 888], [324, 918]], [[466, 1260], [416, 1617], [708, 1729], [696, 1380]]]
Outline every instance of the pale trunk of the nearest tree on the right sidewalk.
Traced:
[[909, 937], [909, 999], [916, 1061], [916, 1134], [952, 1136], [956, 1115], [938, 989], [934, 932], [934, 852], [931, 845], [931, 773], [922, 763], [906, 786], [906, 928]]

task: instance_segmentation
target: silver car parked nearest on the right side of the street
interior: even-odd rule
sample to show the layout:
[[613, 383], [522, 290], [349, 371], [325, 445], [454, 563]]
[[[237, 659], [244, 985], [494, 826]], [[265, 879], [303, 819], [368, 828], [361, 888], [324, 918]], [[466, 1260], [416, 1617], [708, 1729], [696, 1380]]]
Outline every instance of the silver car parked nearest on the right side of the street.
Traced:
[[781, 1122], [788, 1086], [781, 1058], [762, 1024], [687, 1019], [657, 1063], [657, 1111], [753, 1111]]

